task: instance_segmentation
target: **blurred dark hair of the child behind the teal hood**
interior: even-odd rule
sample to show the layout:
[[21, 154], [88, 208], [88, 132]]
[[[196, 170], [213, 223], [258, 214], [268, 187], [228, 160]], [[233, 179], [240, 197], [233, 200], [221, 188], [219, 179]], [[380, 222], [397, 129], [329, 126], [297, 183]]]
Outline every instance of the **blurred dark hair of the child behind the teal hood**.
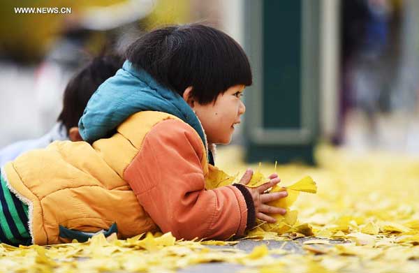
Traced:
[[117, 55], [95, 57], [71, 78], [64, 91], [64, 106], [58, 117], [67, 132], [78, 126], [91, 95], [99, 85], [117, 73], [122, 62], [122, 58]]

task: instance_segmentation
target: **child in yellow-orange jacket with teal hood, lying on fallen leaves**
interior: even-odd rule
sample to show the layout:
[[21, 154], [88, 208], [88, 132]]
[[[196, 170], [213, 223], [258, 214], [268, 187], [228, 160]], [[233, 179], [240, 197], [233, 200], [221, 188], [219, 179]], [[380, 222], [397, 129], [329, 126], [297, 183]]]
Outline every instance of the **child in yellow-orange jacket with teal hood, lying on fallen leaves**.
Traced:
[[[34, 244], [147, 231], [178, 239], [243, 235], [256, 217], [284, 214], [264, 193], [242, 184], [205, 189], [216, 172], [216, 143], [230, 142], [240, 123], [240, 100], [251, 84], [244, 51], [223, 32], [200, 24], [145, 34], [127, 61], [91, 97], [79, 122], [86, 142], [54, 142], [1, 170], [2, 184], [29, 206]], [[209, 149], [210, 147], [210, 149]], [[3, 186], [4, 188], [5, 186]]]

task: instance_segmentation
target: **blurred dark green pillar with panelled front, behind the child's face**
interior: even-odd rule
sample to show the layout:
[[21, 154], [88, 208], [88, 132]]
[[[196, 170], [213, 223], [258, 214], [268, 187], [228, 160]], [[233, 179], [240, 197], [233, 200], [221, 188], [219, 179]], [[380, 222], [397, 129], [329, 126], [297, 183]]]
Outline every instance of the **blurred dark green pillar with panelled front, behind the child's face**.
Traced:
[[246, 159], [313, 163], [318, 137], [319, 1], [245, 0]]

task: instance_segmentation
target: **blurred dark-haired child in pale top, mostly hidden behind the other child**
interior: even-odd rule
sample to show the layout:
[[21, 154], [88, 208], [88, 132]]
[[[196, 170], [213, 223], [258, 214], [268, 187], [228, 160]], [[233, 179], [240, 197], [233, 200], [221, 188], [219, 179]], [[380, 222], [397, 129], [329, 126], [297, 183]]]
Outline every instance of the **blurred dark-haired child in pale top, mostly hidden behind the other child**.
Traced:
[[87, 101], [99, 85], [115, 75], [121, 66], [122, 59], [116, 56], [101, 56], [92, 59], [68, 82], [64, 91], [64, 108], [51, 131], [36, 140], [22, 140], [1, 149], [0, 166], [24, 152], [47, 147], [55, 140], [82, 140], [78, 133], [78, 121]]

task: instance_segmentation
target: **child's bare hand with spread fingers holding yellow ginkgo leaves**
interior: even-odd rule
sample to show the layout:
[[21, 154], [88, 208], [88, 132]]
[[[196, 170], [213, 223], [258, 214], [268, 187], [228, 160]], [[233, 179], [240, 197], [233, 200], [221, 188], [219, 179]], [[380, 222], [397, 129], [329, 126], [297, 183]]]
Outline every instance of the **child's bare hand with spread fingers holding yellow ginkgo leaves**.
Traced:
[[[240, 184], [247, 185], [249, 184], [251, 177], [253, 175], [253, 170], [248, 169], [242, 179], [240, 179]], [[255, 188], [247, 187], [251, 196], [253, 198], [253, 205], [255, 206], [256, 218], [266, 221], [268, 223], [275, 223], [277, 220], [272, 216], [267, 214], [286, 214], [286, 209], [282, 207], [273, 207], [266, 205], [265, 203], [278, 200], [279, 198], [284, 198], [288, 195], [286, 191], [280, 191], [277, 193], [264, 193], [267, 189], [271, 188], [278, 184], [281, 179], [279, 179], [276, 173], [269, 176], [270, 181], [257, 186]]]

